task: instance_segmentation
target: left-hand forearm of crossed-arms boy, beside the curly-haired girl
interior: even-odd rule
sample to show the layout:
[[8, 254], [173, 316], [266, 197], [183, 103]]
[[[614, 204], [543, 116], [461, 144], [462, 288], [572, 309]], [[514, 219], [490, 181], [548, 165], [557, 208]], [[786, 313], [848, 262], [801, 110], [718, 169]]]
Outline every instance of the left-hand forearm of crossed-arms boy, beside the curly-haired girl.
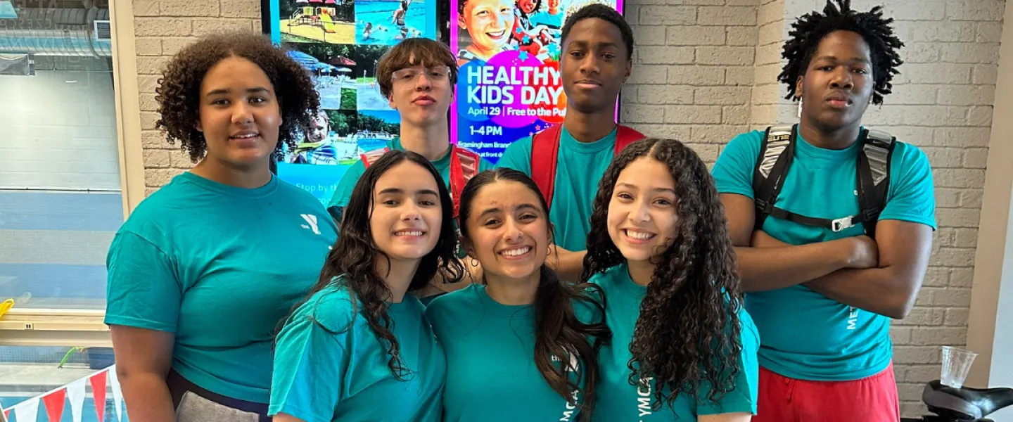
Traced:
[[746, 291], [784, 288], [848, 266], [848, 249], [839, 241], [779, 248], [736, 247], [738, 276]]

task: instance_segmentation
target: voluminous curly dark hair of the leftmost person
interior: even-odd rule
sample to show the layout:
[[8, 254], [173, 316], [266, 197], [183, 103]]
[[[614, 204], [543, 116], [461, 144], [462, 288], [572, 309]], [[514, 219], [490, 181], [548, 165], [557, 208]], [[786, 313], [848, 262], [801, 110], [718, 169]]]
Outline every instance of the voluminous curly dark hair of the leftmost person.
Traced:
[[275, 88], [282, 112], [282, 126], [275, 155], [283, 145], [294, 148], [301, 131], [310, 125], [320, 96], [309, 73], [279, 50], [265, 36], [250, 31], [223, 32], [201, 38], [177, 53], [158, 80], [158, 112], [155, 125], [166, 133], [169, 144], [178, 141], [194, 163], [204, 158], [208, 142], [197, 130], [201, 110], [201, 83], [218, 62], [241, 57], [263, 70]]

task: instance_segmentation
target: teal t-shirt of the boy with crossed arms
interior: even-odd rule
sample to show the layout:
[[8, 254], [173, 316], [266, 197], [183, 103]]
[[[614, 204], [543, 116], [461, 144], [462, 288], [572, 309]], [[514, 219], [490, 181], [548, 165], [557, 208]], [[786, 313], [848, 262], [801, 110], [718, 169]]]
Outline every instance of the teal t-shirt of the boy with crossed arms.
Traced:
[[[753, 197], [753, 169], [763, 132], [735, 137], [714, 165], [721, 193]], [[801, 137], [777, 197], [780, 208], [803, 216], [839, 219], [858, 213], [855, 186], [858, 150], [814, 147]], [[918, 148], [897, 143], [890, 160], [889, 189], [880, 220], [900, 220], [936, 228], [935, 196], [929, 161]], [[768, 218], [763, 231], [791, 244], [805, 245], [865, 234], [862, 225], [830, 229]], [[889, 318], [841, 304], [802, 284], [751, 292], [746, 308], [756, 320], [763, 344], [760, 364], [796, 379], [860, 379], [884, 370], [892, 358]]]

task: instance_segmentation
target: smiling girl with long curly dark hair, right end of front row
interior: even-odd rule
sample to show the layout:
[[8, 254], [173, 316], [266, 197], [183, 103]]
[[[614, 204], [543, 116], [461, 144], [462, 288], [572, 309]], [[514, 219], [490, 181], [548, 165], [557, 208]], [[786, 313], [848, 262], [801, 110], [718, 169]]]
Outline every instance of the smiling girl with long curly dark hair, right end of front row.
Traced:
[[626, 147], [595, 197], [581, 279], [602, 287], [612, 344], [595, 420], [747, 422], [760, 339], [743, 308], [714, 181], [690, 148]]

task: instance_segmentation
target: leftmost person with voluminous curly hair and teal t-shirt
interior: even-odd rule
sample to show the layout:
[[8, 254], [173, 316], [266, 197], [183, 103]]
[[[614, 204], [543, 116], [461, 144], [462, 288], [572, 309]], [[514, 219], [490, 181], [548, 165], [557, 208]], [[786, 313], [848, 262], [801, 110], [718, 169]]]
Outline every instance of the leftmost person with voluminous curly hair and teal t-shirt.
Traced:
[[131, 417], [267, 420], [274, 333], [337, 228], [269, 161], [309, 126], [309, 75], [256, 33], [169, 62], [158, 126], [198, 164], [138, 205], [109, 247], [105, 323]]

